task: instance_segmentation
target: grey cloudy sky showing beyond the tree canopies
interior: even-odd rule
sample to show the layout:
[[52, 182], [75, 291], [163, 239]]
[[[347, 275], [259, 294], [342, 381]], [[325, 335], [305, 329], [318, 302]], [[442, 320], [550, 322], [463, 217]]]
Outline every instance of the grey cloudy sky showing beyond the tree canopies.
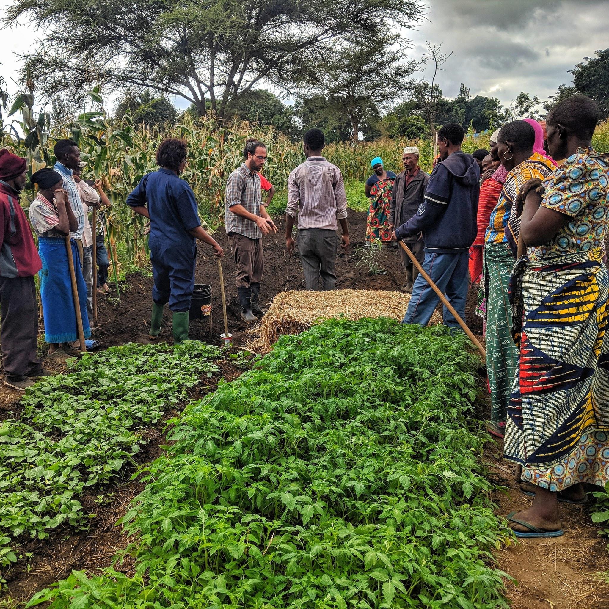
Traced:
[[[10, 0], [0, 0], [2, 8]], [[597, 49], [609, 47], [609, 0], [426, 0], [426, 19], [405, 32], [410, 57], [420, 58], [425, 43], [453, 51], [438, 84], [456, 96], [465, 83], [472, 95], [499, 97], [509, 105], [520, 91], [545, 99], [571, 82], [568, 70]], [[19, 62], [42, 32], [23, 24], [0, 32], [0, 74], [15, 93]], [[177, 101], [177, 100], [176, 100]], [[183, 104], [179, 104], [183, 105]]]

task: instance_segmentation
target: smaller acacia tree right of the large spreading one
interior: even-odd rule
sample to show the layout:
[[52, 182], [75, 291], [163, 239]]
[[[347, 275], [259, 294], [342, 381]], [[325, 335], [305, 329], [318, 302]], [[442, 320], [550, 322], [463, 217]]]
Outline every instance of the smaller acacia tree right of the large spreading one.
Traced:
[[300, 84], [308, 94], [325, 95], [323, 112], [330, 119], [351, 122], [351, 139], [356, 146], [359, 128], [365, 119], [394, 105], [406, 94], [416, 62], [406, 61], [402, 49], [395, 48], [395, 36], [350, 40], [342, 48], [316, 63]]

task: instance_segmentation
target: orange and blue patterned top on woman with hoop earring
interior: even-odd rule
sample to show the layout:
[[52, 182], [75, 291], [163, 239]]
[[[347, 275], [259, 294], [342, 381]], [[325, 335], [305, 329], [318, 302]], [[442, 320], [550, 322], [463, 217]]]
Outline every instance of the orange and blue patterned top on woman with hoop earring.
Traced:
[[507, 174], [497, 206], [493, 209], [493, 213], [491, 213], [487, 232], [484, 236], [486, 243], [508, 242], [505, 230], [512, 214], [512, 204], [516, 200], [519, 189], [531, 178], [544, 180], [554, 169], [555, 167], [551, 160], [542, 157], [537, 152], [533, 152], [532, 156], [523, 161], [523, 163], [516, 165]]

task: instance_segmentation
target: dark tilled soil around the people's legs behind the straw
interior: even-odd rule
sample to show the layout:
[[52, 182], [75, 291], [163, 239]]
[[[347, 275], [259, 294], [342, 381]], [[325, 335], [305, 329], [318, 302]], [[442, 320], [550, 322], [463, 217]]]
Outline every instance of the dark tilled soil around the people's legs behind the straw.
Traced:
[[[285, 249], [285, 225], [283, 219], [276, 220], [279, 231], [263, 238], [264, 247], [264, 277], [259, 300], [270, 305], [278, 292], [284, 290], [305, 289], [305, 277], [298, 256], [287, 255]], [[397, 247], [384, 248], [376, 254], [376, 261], [385, 271], [381, 275], [370, 275], [368, 267], [362, 259], [364, 236], [366, 227], [366, 214], [349, 211], [349, 227], [351, 248], [346, 254], [339, 248], [336, 263], [337, 287], [339, 289], [370, 289], [370, 290], [399, 290], [406, 285], [400, 253]], [[340, 230], [339, 230], [340, 233]], [[241, 320], [241, 307], [237, 298], [236, 284], [234, 283], [236, 266], [230, 253], [230, 245], [224, 230], [214, 234], [214, 239], [224, 248], [222, 270], [224, 273], [225, 292], [227, 297], [228, 331], [233, 334], [235, 344], [248, 342], [248, 325]], [[359, 264], [358, 264], [359, 262]], [[224, 333], [222, 318], [222, 296], [220, 294], [220, 281], [217, 260], [211, 255], [211, 248], [206, 245], [199, 247], [197, 253], [197, 270], [195, 273], [197, 283], [211, 285], [212, 323], [209, 331], [209, 320], [195, 320], [191, 322], [189, 336], [193, 340], [206, 340], [219, 344], [220, 334]], [[148, 342], [148, 329], [150, 326], [150, 311], [152, 308], [152, 277], [141, 273], [129, 275], [122, 286], [120, 303], [116, 299], [116, 289], [110, 286], [108, 295], [99, 295], [99, 322], [101, 328], [95, 337], [105, 347], [121, 345], [125, 342]], [[477, 290], [474, 290], [468, 299], [466, 322], [474, 334], [482, 333], [482, 323], [479, 317], [474, 316]], [[163, 329], [160, 340], [172, 342], [171, 312], [166, 308], [163, 317]]]

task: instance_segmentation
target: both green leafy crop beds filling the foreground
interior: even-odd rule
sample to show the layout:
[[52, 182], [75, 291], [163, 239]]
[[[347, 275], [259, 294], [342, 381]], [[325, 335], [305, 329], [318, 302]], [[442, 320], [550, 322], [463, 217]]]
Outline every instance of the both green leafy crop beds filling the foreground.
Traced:
[[[2, 527], [19, 540], [86, 518], [83, 488], [133, 469], [141, 428], [217, 355], [125, 345], [37, 385], [2, 436]], [[476, 367], [464, 337], [388, 319], [282, 337], [168, 421], [166, 454], [140, 470], [122, 519], [135, 574], [118, 555], [29, 606], [507, 607]], [[51, 390], [60, 399], [44, 404]]]

